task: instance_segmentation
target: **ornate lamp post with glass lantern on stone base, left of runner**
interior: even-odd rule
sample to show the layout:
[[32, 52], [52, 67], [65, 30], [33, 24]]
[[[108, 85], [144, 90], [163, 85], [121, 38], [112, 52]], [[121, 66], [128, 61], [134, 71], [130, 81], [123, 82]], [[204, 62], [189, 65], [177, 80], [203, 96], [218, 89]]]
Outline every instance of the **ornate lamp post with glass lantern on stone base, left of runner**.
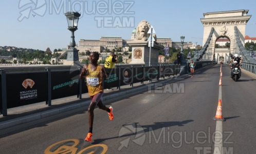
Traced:
[[80, 17], [80, 13], [78, 12], [67, 12], [65, 13], [65, 16], [67, 17], [67, 24], [68, 24], [68, 30], [71, 31], [71, 40], [69, 43], [70, 48], [67, 50], [67, 63], [68, 65], [72, 65], [74, 64], [74, 62], [78, 61], [78, 51], [75, 46], [76, 46], [76, 42], [75, 42], [75, 31], [77, 30], [77, 26], [78, 26], [78, 20]]

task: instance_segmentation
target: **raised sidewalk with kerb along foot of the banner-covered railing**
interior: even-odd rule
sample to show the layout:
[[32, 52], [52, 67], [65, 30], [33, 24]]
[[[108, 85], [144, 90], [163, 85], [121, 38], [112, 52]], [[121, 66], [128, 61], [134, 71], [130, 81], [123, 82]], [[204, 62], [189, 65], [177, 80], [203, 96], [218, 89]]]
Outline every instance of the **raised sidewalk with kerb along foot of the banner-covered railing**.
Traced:
[[[134, 83], [133, 87], [130, 85], [124, 85], [120, 87], [120, 90], [114, 88], [113, 90], [104, 89], [102, 101], [106, 100], [115, 101], [120, 96], [134, 95], [138, 92], [148, 91], [148, 87], [154, 87], [154, 84], [166, 84], [174, 83], [179, 80], [189, 78], [189, 74], [170, 76], [166, 79], [153, 80], [152, 82], [144, 81], [144, 84]], [[34, 121], [56, 115], [62, 112], [67, 112], [72, 109], [80, 108], [89, 105], [90, 98], [88, 93], [82, 94], [82, 99], [77, 99], [77, 95], [61, 98], [51, 101], [51, 106], [47, 106], [45, 102], [14, 107], [7, 109], [7, 116], [0, 116], [0, 130], [12, 127], [15, 125], [23, 124], [26, 122]]]

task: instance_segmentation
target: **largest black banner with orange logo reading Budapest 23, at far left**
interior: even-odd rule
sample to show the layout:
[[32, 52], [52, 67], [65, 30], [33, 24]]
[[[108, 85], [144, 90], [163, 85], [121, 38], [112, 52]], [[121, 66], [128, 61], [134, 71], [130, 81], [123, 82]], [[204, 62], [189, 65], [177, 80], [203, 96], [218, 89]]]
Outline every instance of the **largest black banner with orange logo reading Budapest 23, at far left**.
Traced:
[[47, 72], [6, 74], [7, 108], [47, 99]]

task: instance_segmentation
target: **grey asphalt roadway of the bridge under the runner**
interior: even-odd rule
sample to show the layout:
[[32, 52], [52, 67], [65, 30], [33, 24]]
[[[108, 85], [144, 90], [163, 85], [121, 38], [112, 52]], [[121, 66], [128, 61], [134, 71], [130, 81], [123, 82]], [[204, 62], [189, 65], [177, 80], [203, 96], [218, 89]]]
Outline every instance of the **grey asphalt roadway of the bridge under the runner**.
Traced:
[[[242, 72], [234, 82], [229, 66], [222, 71], [223, 153], [255, 153], [256, 81]], [[0, 153], [213, 153], [219, 81], [220, 65], [214, 65], [193, 78], [109, 100], [115, 118], [95, 109], [92, 143], [84, 141], [87, 107], [8, 128]]]

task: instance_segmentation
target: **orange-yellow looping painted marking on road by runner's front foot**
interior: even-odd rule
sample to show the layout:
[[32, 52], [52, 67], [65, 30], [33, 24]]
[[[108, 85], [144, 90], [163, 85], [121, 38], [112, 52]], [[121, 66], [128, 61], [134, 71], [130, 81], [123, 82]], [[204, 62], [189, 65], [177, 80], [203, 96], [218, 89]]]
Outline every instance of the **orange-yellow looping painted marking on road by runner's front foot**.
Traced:
[[[45, 150], [45, 154], [64, 154], [64, 153], [71, 153], [71, 154], [76, 154], [78, 148], [76, 147], [79, 144], [78, 139], [68, 139], [68, 140], [63, 140], [57, 143], [54, 143], [50, 146], [48, 146]], [[59, 146], [59, 147], [58, 147]], [[79, 151], [77, 154], [82, 154], [82, 152], [90, 149], [90, 148], [95, 148], [95, 147], [101, 147], [103, 148], [102, 154], [106, 153], [107, 151], [107, 146], [105, 144], [96, 144], [96, 145], [91, 145], [88, 146], [81, 151]], [[89, 154], [93, 154], [95, 151], [90, 151]]]

